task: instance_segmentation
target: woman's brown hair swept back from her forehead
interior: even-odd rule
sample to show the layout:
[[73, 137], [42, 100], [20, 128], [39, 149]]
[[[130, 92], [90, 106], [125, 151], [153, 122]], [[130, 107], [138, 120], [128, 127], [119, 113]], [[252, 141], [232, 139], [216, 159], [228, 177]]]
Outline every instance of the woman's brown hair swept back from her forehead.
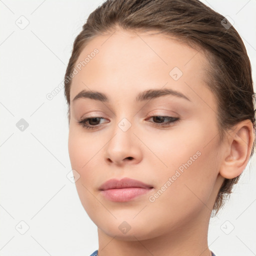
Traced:
[[[74, 40], [65, 72], [64, 93], [69, 122], [70, 74], [78, 56], [94, 36], [110, 33], [117, 27], [141, 32], [156, 30], [202, 50], [209, 64], [206, 85], [217, 100], [220, 141], [229, 129], [242, 120], [249, 119], [254, 131], [255, 98], [245, 46], [229, 21], [199, 0], [106, 0], [91, 12]], [[250, 158], [254, 145], [253, 140]], [[240, 175], [224, 179], [213, 205], [212, 216], [224, 205]]]

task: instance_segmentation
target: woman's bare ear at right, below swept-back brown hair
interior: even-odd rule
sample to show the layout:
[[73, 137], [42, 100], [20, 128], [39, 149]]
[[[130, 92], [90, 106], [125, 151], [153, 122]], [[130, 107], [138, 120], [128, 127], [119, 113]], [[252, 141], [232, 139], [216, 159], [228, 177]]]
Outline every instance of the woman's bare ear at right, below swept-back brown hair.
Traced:
[[234, 178], [242, 173], [249, 160], [254, 141], [254, 130], [250, 120], [244, 120], [228, 131], [225, 142], [225, 155], [219, 174], [225, 178]]

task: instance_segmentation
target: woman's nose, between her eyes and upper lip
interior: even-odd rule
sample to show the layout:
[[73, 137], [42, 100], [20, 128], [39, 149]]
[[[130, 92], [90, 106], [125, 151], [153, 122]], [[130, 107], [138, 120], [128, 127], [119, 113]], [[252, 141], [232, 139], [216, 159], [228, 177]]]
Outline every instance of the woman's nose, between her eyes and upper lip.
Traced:
[[107, 164], [135, 164], [141, 161], [142, 152], [139, 139], [133, 133], [133, 127], [123, 130], [118, 125], [111, 133], [104, 151], [104, 159]]

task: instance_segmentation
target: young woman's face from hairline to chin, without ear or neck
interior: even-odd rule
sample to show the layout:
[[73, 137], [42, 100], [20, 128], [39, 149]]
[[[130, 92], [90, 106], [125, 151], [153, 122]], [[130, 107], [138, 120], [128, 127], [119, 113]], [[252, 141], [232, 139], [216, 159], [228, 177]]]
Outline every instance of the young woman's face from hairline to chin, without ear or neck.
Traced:
[[[223, 147], [204, 68], [201, 51], [148, 33], [100, 35], [81, 52], [68, 150], [81, 203], [107, 235], [153, 238], [202, 221], [207, 228]], [[82, 90], [90, 94], [74, 99]], [[86, 118], [91, 129], [78, 123]], [[124, 177], [148, 186], [100, 190]]]

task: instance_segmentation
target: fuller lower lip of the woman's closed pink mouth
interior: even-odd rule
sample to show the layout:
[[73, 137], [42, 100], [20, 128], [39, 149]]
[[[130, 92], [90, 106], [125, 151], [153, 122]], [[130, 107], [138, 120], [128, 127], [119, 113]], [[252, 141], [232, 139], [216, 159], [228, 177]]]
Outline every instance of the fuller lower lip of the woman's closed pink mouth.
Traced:
[[101, 193], [110, 201], [126, 202], [139, 195], [147, 193], [151, 189], [152, 188], [126, 187], [101, 190]]

